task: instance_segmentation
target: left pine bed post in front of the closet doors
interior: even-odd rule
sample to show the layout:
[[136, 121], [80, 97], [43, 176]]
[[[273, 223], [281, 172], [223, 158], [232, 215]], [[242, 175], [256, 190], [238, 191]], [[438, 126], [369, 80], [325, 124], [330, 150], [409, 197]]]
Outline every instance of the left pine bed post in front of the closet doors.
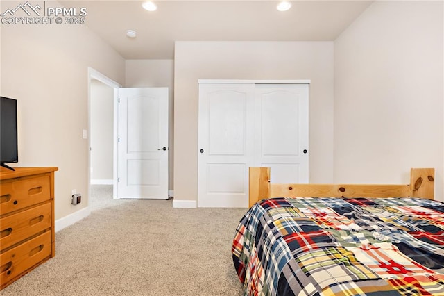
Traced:
[[255, 202], [270, 197], [270, 167], [250, 167], [248, 207]]

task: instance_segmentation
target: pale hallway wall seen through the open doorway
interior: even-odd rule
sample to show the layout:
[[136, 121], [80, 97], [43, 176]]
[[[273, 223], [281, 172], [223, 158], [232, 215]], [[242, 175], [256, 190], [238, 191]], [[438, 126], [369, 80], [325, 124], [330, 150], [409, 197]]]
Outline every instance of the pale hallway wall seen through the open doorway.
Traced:
[[90, 179], [92, 183], [112, 183], [114, 164], [114, 88], [96, 79], [92, 79], [90, 88]]

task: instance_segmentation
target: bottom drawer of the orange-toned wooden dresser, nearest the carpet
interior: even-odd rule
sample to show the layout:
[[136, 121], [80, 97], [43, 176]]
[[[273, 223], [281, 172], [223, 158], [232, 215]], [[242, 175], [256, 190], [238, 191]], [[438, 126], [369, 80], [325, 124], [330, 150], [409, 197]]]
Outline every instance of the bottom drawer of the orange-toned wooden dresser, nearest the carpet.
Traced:
[[10, 281], [21, 277], [22, 272], [51, 256], [51, 231], [28, 240], [0, 255], [1, 287], [8, 286]]

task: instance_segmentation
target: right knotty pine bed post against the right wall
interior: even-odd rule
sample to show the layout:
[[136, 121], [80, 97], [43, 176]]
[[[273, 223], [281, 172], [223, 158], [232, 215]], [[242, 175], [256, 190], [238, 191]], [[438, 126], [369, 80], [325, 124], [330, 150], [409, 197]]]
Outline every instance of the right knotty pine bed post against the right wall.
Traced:
[[411, 197], [422, 197], [434, 199], [435, 190], [435, 169], [415, 169], [410, 170]]

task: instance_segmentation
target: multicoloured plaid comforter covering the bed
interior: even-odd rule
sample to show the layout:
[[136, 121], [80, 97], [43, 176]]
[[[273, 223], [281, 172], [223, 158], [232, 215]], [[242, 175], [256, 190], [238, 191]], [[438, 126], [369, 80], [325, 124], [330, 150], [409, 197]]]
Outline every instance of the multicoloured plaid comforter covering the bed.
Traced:
[[232, 258], [246, 295], [444, 295], [444, 203], [265, 199]]

